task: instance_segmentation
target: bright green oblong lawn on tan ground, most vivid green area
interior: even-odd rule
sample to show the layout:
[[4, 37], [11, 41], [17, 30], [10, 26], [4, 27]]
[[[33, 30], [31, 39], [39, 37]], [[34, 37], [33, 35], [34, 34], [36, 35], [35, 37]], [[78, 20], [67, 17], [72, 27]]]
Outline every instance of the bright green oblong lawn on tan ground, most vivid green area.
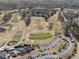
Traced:
[[43, 40], [43, 39], [49, 39], [51, 37], [52, 37], [51, 33], [36, 33], [36, 34], [30, 34], [29, 39]]

